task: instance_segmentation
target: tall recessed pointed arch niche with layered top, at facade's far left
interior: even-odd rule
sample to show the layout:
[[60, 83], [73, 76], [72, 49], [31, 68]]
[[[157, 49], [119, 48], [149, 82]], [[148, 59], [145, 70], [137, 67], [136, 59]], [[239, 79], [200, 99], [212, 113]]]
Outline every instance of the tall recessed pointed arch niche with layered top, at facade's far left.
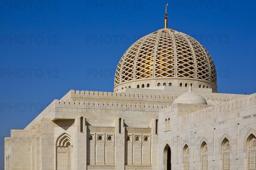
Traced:
[[71, 137], [62, 133], [56, 140], [56, 170], [71, 169]]

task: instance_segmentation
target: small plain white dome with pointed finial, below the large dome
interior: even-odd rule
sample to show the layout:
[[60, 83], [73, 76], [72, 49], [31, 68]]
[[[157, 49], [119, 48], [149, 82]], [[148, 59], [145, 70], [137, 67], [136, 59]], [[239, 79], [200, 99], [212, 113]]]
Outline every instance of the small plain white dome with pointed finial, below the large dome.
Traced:
[[197, 105], [207, 105], [206, 99], [203, 96], [192, 91], [191, 86], [189, 91], [180, 95], [173, 101], [173, 103], [186, 103], [186, 104], [197, 104]]

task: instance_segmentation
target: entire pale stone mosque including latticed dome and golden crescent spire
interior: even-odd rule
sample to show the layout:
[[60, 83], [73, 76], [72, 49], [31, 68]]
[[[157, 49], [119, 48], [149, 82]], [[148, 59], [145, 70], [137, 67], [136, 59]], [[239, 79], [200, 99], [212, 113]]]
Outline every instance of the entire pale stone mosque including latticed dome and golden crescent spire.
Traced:
[[256, 94], [218, 93], [212, 57], [167, 11], [125, 51], [113, 91], [70, 90], [11, 130], [5, 169], [256, 170]]

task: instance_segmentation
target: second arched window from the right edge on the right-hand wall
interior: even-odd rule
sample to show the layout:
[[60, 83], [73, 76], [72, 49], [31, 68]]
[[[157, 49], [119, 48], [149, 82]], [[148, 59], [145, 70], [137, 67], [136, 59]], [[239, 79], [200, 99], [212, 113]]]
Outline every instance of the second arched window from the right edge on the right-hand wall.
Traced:
[[230, 169], [230, 142], [225, 138], [221, 144], [222, 170]]

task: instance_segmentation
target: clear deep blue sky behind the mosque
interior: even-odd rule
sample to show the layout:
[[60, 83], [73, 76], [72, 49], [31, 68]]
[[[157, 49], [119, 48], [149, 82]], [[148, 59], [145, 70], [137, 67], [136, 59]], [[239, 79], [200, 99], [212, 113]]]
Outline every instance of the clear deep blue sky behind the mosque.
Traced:
[[166, 2], [169, 28], [211, 54], [218, 91], [256, 92], [255, 0], [1, 0], [0, 169], [3, 136], [26, 127], [54, 99], [70, 89], [113, 91], [119, 59], [135, 40], [163, 28]]

